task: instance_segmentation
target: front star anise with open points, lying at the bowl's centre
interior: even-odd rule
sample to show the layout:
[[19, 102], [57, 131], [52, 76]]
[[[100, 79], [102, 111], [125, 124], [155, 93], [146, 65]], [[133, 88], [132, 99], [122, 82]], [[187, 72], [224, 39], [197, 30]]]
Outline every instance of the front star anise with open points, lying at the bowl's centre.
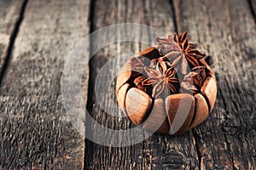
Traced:
[[157, 98], [162, 92], [164, 92], [165, 96], [177, 92], [175, 84], [178, 83], [178, 79], [175, 77], [176, 72], [174, 67], [171, 66], [168, 68], [164, 62], [158, 62], [155, 69], [145, 67], [145, 72], [148, 78], [143, 80], [142, 85], [152, 85], [154, 87], [152, 97]]

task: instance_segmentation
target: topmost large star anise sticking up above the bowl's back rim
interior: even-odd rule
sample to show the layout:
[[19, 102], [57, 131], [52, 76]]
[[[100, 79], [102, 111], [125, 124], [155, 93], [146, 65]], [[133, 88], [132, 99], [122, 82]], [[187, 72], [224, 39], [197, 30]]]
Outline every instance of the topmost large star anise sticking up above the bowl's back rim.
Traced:
[[174, 34], [174, 39], [171, 36], [167, 38], [157, 37], [160, 53], [164, 54], [163, 58], [172, 62], [172, 65], [181, 71], [183, 75], [187, 74], [189, 65], [193, 67], [199, 66], [198, 59], [205, 57], [195, 49], [194, 44], [189, 43], [187, 32], [177, 36]]

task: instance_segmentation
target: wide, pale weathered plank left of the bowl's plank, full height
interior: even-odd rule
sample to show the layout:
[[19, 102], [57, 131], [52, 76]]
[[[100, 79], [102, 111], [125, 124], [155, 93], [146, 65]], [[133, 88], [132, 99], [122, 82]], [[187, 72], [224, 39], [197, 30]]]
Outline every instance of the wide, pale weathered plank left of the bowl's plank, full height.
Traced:
[[67, 122], [60, 81], [67, 54], [89, 33], [89, 6], [27, 3], [1, 87], [1, 169], [83, 169], [84, 137]]

